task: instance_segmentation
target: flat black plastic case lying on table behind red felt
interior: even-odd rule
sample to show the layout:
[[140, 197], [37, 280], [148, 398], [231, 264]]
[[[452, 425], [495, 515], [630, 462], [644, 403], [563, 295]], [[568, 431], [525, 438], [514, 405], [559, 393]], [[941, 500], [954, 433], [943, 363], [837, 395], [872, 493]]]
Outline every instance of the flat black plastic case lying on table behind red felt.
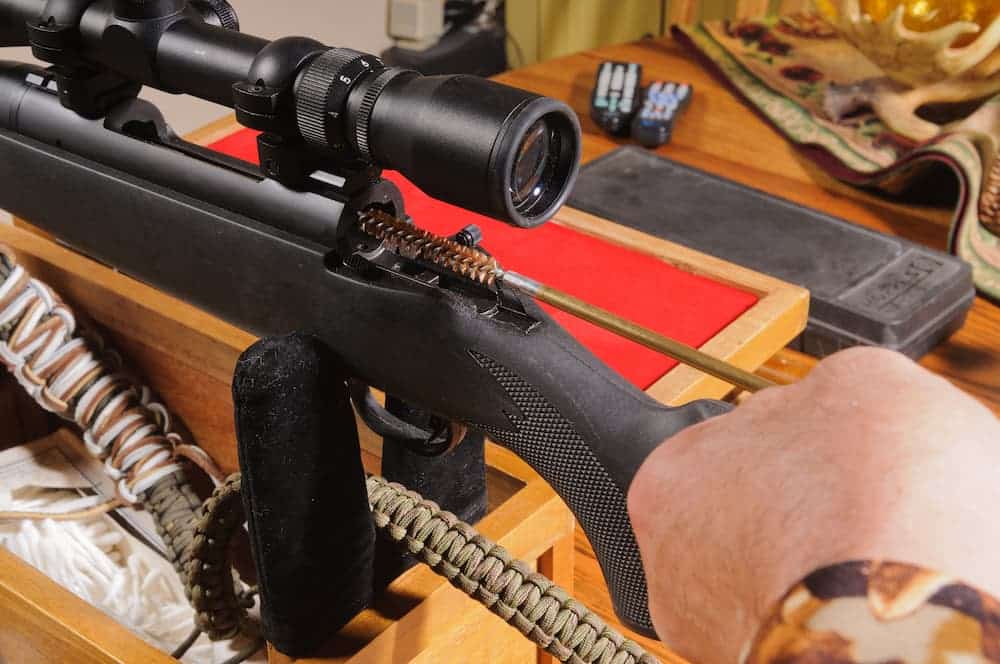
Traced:
[[975, 298], [965, 261], [636, 147], [591, 162], [570, 205], [809, 289], [793, 347], [882, 346], [919, 357]]

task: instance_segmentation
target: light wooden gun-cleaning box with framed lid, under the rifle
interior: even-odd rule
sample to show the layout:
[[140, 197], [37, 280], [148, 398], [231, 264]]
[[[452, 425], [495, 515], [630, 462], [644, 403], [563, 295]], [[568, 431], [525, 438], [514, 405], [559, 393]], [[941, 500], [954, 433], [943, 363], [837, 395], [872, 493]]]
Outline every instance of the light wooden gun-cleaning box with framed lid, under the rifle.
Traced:
[[[231, 124], [210, 128], [201, 140], [226, 130]], [[742, 368], [757, 369], [805, 326], [808, 294], [800, 288], [575, 210], [563, 210], [556, 221], [757, 295], [757, 304], [702, 346]], [[26, 224], [0, 226], [0, 242], [14, 249], [35, 277], [99, 324], [225, 471], [237, 468], [230, 377], [239, 353], [254, 341], [252, 335], [76, 254]], [[677, 367], [649, 392], [677, 404], [721, 397], [730, 390], [721, 381]], [[362, 436], [362, 444], [366, 467], [377, 472], [379, 442], [369, 435]], [[572, 590], [574, 521], [568, 509], [506, 450], [488, 445], [487, 463], [491, 504], [478, 527]], [[331, 654], [323, 662], [552, 661], [422, 566], [394, 582], [376, 607], [333, 638], [327, 652]], [[275, 652], [270, 660], [287, 661]], [[0, 661], [173, 660], [0, 550]]]

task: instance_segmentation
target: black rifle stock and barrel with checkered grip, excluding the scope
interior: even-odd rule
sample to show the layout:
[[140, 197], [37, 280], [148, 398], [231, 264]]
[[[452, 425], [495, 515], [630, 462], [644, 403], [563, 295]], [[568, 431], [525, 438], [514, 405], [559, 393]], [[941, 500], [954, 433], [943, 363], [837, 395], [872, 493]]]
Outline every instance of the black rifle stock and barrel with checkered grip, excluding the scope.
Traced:
[[364, 201], [292, 192], [180, 145], [141, 102], [85, 120], [39, 76], [0, 63], [0, 207], [254, 333], [313, 333], [369, 385], [482, 430], [566, 501], [619, 617], [652, 633], [629, 484], [657, 445], [724, 404], [655, 402], [533, 302], [366, 269], [302, 231]]

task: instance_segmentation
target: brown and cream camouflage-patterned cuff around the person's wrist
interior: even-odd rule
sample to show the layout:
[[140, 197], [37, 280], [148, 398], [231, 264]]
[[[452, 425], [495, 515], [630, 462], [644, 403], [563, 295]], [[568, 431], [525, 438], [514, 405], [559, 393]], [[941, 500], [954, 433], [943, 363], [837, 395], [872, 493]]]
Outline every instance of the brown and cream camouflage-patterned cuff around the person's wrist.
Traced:
[[1000, 662], [1000, 603], [913, 565], [848, 562], [778, 602], [743, 664]]

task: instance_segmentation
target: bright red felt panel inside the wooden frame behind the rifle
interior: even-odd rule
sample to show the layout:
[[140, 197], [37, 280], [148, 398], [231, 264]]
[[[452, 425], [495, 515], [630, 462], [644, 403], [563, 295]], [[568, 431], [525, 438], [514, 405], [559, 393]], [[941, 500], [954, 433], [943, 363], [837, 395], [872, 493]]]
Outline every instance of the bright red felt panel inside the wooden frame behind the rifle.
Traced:
[[[211, 147], [256, 161], [256, 132], [243, 130]], [[468, 224], [483, 229], [483, 246], [506, 268], [609, 309], [662, 334], [701, 346], [757, 302], [757, 297], [679, 270], [636, 251], [549, 223], [525, 230], [427, 196], [398, 173], [414, 222], [440, 235]], [[677, 363], [595, 325], [546, 307], [591, 352], [646, 389]]]

